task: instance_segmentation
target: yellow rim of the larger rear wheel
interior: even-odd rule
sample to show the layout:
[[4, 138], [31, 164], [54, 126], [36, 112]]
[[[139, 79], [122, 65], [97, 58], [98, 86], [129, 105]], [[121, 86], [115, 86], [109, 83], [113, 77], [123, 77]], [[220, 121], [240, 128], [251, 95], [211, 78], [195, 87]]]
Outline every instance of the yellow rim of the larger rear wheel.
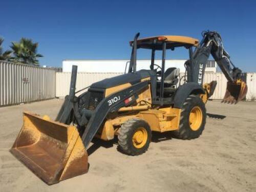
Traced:
[[203, 113], [199, 106], [195, 106], [193, 109], [191, 109], [189, 114], [189, 125], [190, 129], [193, 131], [197, 131], [203, 120]]

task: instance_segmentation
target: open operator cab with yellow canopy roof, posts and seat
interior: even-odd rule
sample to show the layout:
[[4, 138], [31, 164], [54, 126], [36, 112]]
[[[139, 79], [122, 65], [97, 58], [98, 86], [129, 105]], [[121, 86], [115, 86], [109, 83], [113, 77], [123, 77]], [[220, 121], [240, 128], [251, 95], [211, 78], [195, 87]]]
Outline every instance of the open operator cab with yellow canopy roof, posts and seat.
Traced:
[[[169, 103], [173, 93], [177, 89], [179, 82], [180, 69], [170, 67], [165, 70], [166, 49], [174, 50], [176, 47], [185, 47], [189, 50], [189, 57], [193, 52], [192, 48], [198, 46], [198, 39], [186, 36], [154, 36], [138, 39], [139, 33], [135, 35], [130, 45], [133, 47], [129, 73], [136, 73], [137, 49], [151, 50], [151, 91], [153, 104], [163, 105]], [[162, 65], [155, 64], [155, 52], [162, 51]], [[138, 71], [139, 72], [139, 71]]]

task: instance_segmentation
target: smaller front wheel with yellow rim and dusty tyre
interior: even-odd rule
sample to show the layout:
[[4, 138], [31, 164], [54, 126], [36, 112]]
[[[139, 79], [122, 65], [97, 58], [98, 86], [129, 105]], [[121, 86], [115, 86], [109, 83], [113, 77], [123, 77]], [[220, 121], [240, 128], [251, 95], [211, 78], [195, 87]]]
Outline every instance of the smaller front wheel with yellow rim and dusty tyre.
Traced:
[[119, 129], [118, 144], [127, 155], [140, 155], [147, 151], [151, 142], [151, 129], [145, 121], [132, 118], [125, 121]]

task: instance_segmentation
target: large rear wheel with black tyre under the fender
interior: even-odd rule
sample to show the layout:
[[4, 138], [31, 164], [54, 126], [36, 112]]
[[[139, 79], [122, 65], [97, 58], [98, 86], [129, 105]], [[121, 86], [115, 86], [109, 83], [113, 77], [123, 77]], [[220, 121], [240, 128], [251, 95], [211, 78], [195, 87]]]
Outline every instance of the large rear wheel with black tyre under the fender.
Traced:
[[173, 131], [178, 139], [198, 138], [205, 126], [206, 110], [202, 99], [196, 95], [189, 95], [182, 104], [179, 130]]

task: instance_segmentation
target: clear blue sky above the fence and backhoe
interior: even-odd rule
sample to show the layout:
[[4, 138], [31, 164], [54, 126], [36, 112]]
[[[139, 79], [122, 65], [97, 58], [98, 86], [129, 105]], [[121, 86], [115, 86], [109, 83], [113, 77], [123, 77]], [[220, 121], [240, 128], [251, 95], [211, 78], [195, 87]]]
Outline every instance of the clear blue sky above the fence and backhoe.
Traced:
[[[185, 35], [201, 40], [218, 31], [237, 67], [256, 72], [256, 1], [35, 1], [1, 2], [3, 47], [22, 37], [38, 42], [41, 65], [61, 67], [64, 59], [129, 59], [129, 41]], [[150, 58], [138, 52], [139, 59]], [[167, 54], [186, 59], [187, 50]]]

